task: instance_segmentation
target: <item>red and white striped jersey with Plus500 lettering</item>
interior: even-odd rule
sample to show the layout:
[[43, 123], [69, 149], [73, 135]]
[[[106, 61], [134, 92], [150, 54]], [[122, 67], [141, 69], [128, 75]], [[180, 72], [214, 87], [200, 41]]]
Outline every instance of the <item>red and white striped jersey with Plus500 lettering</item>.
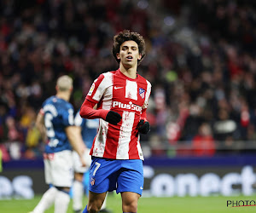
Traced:
[[148, 107], [151, 83], [137, 74], [126, 77], [119, 70], [105, 72], [92, 83], [86, 99], [97, 103], [98, 109], [118, 112], [117, 125], [100, 119], [97, 135], [90, 149], [92, 156], [113, 159], [143, 159], [137, 124], [142, 110]]

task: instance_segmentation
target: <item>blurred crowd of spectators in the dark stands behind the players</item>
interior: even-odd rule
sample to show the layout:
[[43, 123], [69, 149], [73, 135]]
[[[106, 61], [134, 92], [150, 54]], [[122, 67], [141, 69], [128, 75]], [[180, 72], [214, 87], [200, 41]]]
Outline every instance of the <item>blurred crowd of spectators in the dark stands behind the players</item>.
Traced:
[[253, 147], [255, 26], [256, 3], [246, 0], [1, 0], [3, 160], [42, 156], [34, 123], [55, 95], [56, 78], [73, 78], [78, 110], [92, 81], [118, 68], [113, 36], [124, 29], [147, 44], [138, 72], [153, 86], [151, 132], [142, 136], [149, 154], [213, 156]]

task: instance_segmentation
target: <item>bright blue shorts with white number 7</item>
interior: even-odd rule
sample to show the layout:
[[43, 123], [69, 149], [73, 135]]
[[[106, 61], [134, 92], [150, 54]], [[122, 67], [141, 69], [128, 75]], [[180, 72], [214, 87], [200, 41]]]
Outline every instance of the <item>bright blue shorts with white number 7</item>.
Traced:
[[89, 190], [93, 193], [143, 193], [143, 161], [92, 157]]

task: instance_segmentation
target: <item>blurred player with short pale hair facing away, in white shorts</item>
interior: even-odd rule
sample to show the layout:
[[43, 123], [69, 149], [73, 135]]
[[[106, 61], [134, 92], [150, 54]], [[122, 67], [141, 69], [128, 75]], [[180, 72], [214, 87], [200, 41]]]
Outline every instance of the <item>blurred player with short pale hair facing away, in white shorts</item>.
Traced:
[[56, 95], [49, 97], [38, 112], [36, 125], [46, 142], [44, 150], [45, 181], [51, 185], [32, 211], [41, 213], [55, 204], [55, 213], [67, 212], [69, 189], [73, 184], [72, 147], [85, 166], [82, 137], [74, 126], [73, 106], [68, 102], [73, 80], [67, 75], [58, 78]]

